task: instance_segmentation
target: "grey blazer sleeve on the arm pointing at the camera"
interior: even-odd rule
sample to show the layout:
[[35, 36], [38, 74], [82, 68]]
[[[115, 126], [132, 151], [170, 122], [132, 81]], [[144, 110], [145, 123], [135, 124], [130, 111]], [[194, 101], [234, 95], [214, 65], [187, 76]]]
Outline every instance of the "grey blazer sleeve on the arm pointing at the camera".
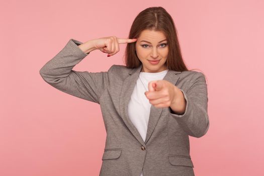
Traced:
[[202, 137], [209, 129], [208, 93], [204, 74], [195, 72], [190, 80], [187, 92], [180, 90], [187, 102], [186, 110], [184, 114], [178, 115], [169, 108], [170, 115], [177, 119], [177, 122], [190, 136]]

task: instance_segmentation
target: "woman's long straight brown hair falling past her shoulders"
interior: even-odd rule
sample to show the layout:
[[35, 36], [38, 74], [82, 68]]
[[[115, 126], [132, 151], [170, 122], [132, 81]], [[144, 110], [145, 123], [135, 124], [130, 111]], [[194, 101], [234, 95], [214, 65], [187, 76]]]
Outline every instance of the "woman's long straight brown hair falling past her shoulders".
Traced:
[[[187, 71], [178, 41], [177, 29], [167, 11], [162, 7], [150, 7], [140, 12], [135, 18], [129, 38], [138, 38], [143, 30], [155, 30], [164, 33], [169, 48], [166, 60], [167, 69], [175, 71]], [[127, 68], [140, 66], [141, 61], [136, 54], [136, 42], [128, 43], [125, 51], [125, 64]]]

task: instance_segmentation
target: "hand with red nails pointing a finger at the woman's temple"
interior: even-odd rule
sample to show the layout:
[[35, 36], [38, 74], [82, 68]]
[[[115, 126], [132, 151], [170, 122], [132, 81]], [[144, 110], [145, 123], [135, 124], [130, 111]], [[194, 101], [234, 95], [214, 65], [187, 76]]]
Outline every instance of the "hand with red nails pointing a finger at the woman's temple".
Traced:
[[96, 49], [99, 49], [104, 53], [109, 53], [108, 56], [112, 56], [117, 52], [119, 52], [119, 44], [133, 43], [136, 41], [137, 39], [123, 39], [123, 38], [117, 38], [116, 36], [111, 36], [111, 37], [94, 39], [93, 43]]

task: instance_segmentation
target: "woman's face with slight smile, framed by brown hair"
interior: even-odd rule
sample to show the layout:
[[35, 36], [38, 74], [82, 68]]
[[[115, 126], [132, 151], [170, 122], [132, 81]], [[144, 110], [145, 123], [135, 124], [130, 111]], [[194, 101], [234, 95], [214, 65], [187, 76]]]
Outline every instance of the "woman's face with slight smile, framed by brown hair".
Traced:
[[167, 69], [168, 46], [163, 32], [142, 31], [136, 41], [136, 53], [142, 62], [141, 71], [155, 73]]

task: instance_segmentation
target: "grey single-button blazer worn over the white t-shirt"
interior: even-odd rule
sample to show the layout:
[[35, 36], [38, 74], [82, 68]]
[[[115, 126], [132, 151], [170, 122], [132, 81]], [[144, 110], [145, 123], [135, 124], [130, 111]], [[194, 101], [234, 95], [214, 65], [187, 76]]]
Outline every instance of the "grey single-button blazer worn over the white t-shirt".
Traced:
[[[145, 141], [128, 117], [128, 103], [142, 67], [113, 65], [105, 72], [74, 71], [89, 53], [70, 39], [41, 69], [42, 78], [56, 89], [100, 104], [107, 132], [100, 176], [194, 175], [189, 135], [202, 137], [209, 128], [207, 84], [196, 71], [168, 70], [163, 80], [176, 85], [187, 101], [182, 115], [151, 105]], [[142, 95], [144, 96], [144, 95]]]

